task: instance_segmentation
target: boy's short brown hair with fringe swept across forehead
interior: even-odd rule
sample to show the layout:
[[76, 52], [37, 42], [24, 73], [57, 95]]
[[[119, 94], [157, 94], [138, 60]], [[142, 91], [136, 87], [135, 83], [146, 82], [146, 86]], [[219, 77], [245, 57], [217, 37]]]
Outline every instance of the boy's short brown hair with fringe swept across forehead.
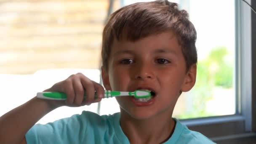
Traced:
[[196, 30], [188, 17], [187, 11], [180, 11], [177, 3], [168, 0], [134, 3], [115, 11], [103, 30], [101, 58], [104, 70], [108, 70], [114, 38], [136, 41], [166, 30], [173, 30], [178, 35], [188, 70], [197, 63]]

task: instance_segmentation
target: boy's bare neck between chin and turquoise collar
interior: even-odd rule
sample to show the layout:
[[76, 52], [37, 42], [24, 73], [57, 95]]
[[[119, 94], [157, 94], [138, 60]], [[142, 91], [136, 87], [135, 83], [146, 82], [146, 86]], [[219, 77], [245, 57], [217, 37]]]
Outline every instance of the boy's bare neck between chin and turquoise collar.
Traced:
[[169, 114], [137, 120], [121, 109], [120, 125], [131, 144], [159, 144], [168, 140], [174, 131], [175, 121], [172, 113]]

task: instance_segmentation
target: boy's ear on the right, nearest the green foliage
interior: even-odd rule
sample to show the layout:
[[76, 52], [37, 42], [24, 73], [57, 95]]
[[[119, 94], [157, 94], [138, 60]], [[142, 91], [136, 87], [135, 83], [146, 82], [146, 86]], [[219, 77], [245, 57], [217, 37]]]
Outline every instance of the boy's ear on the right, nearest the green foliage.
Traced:
[[196, 76], [197, 76], [197, 65], [192, 64], [189, 67], [189, 70], [187, 71], [187, 74], [184, 79], [184, 83], [181, 87], [181, 91], [186, 92], [191, 90], [191, 88], [193, 88], [193, 86], [195, 85]]

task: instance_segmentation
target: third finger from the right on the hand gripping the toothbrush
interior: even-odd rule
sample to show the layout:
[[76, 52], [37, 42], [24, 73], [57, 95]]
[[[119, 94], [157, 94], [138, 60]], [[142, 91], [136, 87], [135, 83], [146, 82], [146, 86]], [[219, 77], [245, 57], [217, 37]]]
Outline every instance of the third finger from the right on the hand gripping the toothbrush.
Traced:
[[74, 104], [76, 105], [81, 105], [83, 102], [83, 98], [84, 98], [84, 88], [83, 85], [80, 81], [80, 78], [78, 76], [74, 77], [73, 81], [73, 88], [75, 91], [75, 100], [74, 100]]

